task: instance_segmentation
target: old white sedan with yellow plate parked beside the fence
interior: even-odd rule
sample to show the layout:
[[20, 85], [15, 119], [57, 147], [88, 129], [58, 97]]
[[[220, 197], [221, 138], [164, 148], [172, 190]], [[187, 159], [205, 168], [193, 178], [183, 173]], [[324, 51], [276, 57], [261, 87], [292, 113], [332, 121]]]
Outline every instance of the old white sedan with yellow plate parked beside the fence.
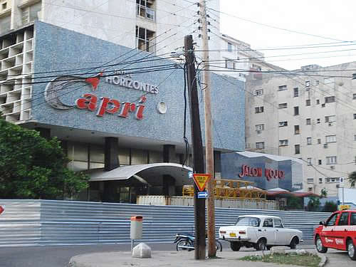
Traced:
[[219, 239], [230, 242], [233, 251], [241, 246], [269, 249], [271, 246], [290, 246], [294, 249], [303, 242], [302, 232], [284, 228], [281, 218], [268, 215], [244, 215], [237, 218], [233, 226], [222, 226]]

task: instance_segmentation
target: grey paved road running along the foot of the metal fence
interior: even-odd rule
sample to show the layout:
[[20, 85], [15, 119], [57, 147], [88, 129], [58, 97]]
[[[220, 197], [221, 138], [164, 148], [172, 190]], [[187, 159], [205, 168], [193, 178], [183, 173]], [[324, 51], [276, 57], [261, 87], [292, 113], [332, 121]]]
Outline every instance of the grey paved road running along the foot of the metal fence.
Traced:
[[[228, 242], [223, 242], [223, 250], [229, 250]], [[310, 248], [310, 241], [300, 248]], [[174, 244], [149, 244], [153, 251], [175, 251]], [[306, 246], [305, 246], [306, 245]], [[90, 245], [90, 246], [31, 246], [0, 248], [1, 267], [65, 267], [73, 256], [94, 252], [130, 251], [130, 244], [125, 245]], [[327, 266], [351, 266], [347, 253], [330, 250], [326, 256]]]

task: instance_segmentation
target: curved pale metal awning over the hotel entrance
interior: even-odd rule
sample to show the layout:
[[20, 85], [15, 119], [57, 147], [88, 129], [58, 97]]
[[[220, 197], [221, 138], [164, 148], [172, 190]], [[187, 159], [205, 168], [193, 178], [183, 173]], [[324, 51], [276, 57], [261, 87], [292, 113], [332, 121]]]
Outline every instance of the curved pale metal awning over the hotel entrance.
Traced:
[[104, 169], [91, 169], [88, 175], [90, 177], [89, 182], [125, 180], [135, 176], [145, 179], [155, 179], [155, 177], [170, 175], [177, 181], [182, 182], [182, 184], [191, 184], [192, 179], [188, 177], [188, 172], [191, 171], [191, 167], [182, 164], [152, 163], [117, 167], [109, 172], [105, 172]]

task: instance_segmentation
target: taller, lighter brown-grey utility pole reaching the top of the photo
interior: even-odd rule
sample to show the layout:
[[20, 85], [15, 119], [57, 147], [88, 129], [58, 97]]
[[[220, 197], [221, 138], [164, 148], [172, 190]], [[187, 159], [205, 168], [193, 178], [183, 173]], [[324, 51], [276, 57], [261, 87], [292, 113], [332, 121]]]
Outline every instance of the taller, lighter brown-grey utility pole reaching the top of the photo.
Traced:
[[213, 122], [211, 120], [211, 97], [210, 97], [210, 71], [209, 71], [209, 36], [208, 21], [206, 20], [206, 1], [199, 0], [201, 16], [201, 39], [203, 43], [203, 80], [204, 80], [204, 115], [205, 115], [205, 157], [206, 173], [210, 174], [211, 179], [207, 184], [209, 192], [208, 198], [208, 256], [216, 256], [215, 246], [215, 194], [214, 194], [214, 146], [212, 137]]

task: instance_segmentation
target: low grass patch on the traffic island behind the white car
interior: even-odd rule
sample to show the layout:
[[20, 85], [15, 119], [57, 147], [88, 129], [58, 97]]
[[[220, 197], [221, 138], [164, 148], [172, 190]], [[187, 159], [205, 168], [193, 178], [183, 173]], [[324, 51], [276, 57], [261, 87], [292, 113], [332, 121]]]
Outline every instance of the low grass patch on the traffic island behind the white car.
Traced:
[[239, 258], [240, 261], [262, 261], [266, 263], [290, 264], [298, 266], [318, 267], [320, 258], [312, 253], [273, 253], [265, 256], [246, 256]]

